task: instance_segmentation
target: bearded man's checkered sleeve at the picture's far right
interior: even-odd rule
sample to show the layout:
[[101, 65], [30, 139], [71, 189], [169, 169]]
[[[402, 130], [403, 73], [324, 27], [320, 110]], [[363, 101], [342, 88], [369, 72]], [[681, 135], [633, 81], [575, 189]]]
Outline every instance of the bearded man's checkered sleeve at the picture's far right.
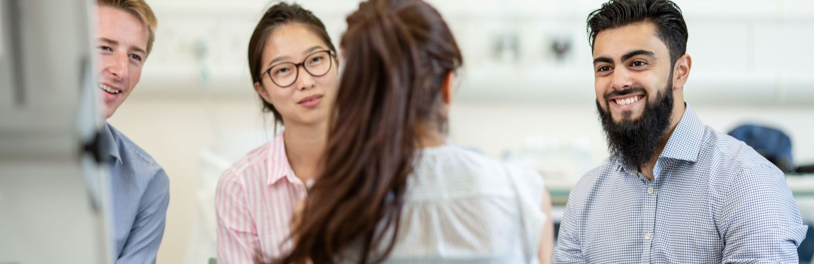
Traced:
[[[732, 180], [716, 219], [724, 240], [724, 263], [798, 263], [806, 236], [786, 177], [758, 164]], [[722, 192], [723, 193], [723, 192]]]

